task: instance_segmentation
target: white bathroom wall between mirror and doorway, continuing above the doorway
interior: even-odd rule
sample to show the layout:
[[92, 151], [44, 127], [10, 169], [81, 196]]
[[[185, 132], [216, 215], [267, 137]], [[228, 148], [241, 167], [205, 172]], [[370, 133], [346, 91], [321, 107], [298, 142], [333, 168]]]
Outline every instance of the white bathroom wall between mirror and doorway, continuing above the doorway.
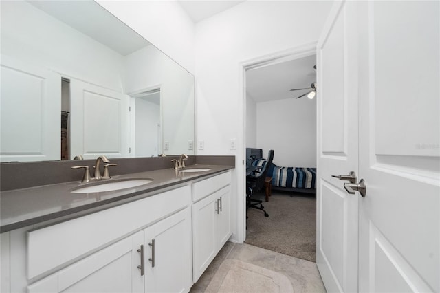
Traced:
[[[241, 63], [316, 42], [330, 1], [245, 1], [196, 25], [196, 137], [199, 155], [236, 155], [232, 239], [241, 241], [245, 144]], [[236, 138], [237, 149], [230, 150]]]

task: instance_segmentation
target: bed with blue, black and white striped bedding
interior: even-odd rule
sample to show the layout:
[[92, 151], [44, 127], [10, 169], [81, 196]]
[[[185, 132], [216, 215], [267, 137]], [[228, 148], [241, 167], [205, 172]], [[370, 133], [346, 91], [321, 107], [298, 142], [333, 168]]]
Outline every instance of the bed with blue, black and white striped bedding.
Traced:
[[[246, 155], [247, 164], [253, 166], [265, 164], [261, 149], [248, 148]], [[274, 190], [316, 194], [316, 168], [314, 167], [277, 166], [272, 163], [267, 171], [267, 177], [272, 177]]]

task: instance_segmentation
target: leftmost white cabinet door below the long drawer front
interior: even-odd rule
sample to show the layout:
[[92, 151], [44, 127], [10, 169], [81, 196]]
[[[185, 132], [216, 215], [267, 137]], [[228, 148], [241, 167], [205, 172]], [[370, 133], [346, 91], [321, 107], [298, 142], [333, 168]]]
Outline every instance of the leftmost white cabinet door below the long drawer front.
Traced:
[[143, 232], [126, 237], [28, 287], [28, 292], [144, 292], [140, 275]]

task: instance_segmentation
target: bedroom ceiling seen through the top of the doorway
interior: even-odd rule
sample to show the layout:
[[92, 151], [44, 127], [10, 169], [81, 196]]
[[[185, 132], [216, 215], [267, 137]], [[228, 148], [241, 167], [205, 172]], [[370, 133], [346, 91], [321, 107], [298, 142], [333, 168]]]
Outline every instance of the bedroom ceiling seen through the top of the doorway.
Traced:
[[290, 91], [310, 87], [316, 81], [316, 55], [250, 69], [246, 72], [246, 92], [255, 102], [296, 98], [307, 93]]

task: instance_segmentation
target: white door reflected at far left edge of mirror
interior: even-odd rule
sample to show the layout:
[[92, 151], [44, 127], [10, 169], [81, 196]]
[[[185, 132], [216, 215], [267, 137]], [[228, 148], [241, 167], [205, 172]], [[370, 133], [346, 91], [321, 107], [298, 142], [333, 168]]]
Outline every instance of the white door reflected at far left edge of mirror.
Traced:
[[0, 161], [61, 160], [61, 76], [1, 56]]

